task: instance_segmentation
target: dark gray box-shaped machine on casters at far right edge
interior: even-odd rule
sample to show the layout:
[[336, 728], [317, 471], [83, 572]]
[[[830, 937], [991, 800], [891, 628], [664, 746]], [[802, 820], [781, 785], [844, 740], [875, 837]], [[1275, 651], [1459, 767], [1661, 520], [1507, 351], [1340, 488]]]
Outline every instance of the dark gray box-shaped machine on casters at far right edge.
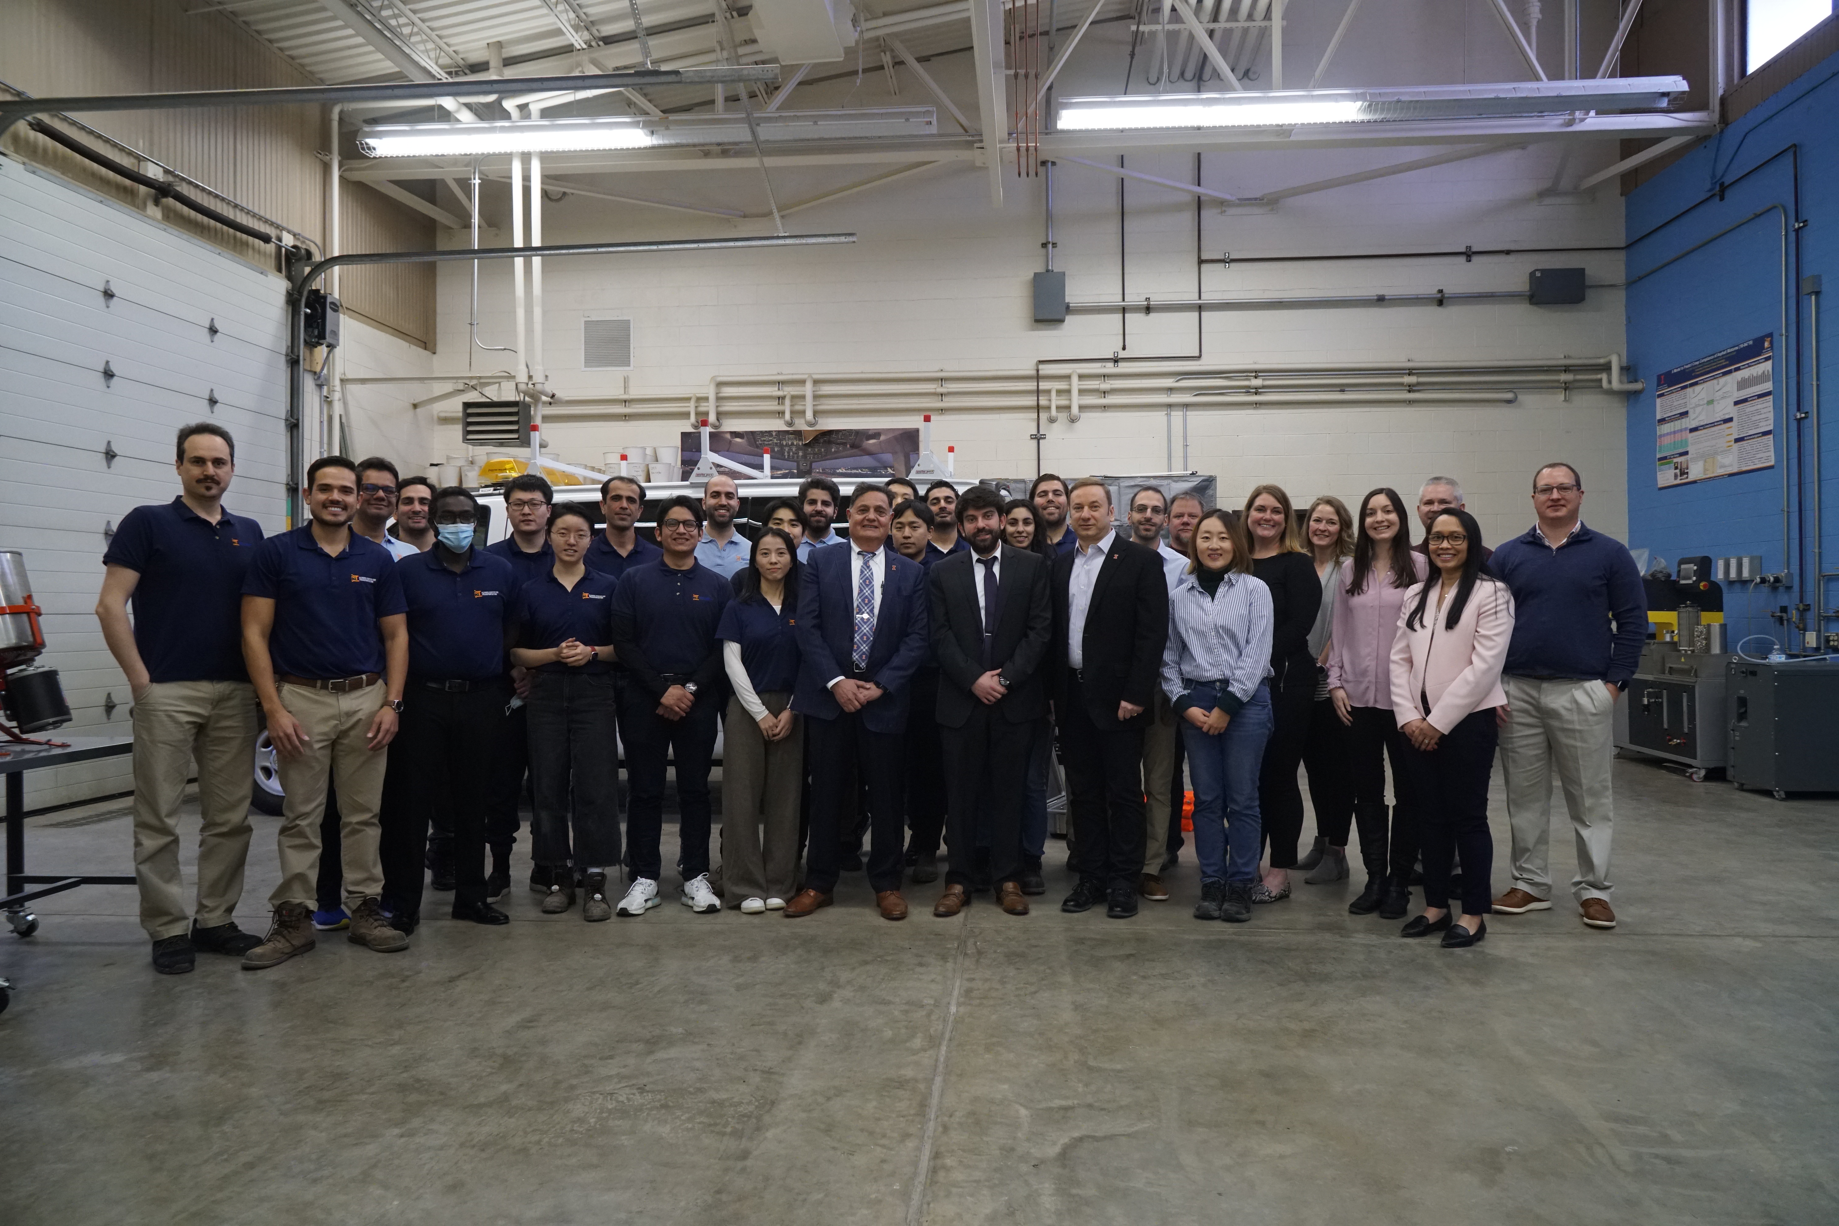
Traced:
[[1730, 656], [1727, 776], [1740, 789], [1839, 792], [1839, 664]]

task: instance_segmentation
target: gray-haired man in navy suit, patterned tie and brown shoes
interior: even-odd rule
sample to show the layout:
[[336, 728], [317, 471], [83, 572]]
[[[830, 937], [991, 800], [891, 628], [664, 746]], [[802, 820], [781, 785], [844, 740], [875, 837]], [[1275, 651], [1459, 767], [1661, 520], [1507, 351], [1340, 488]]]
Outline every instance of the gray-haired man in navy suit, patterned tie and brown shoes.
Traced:
[[886, 487], [859, 485], [850, 498], [848, 548], [813, 550], [798, 585], [802, 660], [793, 709], [805, 717], [813, 794], [805, 888], [785, 904], [789, 919], [831, 904], [839, 827], [857, 776], [868, 787], [875, 906], [885, 919], [907, 919], [901, 737], [908, 686], [927, 656], [927, 607], [925, 568], [883, 548], [892, 513]]

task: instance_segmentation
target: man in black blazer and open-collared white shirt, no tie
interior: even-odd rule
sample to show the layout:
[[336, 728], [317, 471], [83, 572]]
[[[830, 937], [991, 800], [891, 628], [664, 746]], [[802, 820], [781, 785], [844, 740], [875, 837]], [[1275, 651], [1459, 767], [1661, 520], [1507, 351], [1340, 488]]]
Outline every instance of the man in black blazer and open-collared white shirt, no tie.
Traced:
[[1067, 805], [1079, 884], [1063, 912], [1107, 901], [1137, 914], [1144, 858], [1144, 722], [1168, 643], [1162, 559], [1111, 526], [1111, 491], [1072, 483], [1078, 546], [1054, 561], [1054, 715], [1067, 766]]

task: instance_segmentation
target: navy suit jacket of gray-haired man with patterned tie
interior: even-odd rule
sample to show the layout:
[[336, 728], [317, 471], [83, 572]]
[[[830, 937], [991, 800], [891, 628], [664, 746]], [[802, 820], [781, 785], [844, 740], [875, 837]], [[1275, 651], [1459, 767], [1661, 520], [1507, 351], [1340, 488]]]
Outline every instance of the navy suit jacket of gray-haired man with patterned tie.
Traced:
[[[925, 568], [894, 550], [883, 550], [881, 614], [868, 645], [868, 680], [886, 693], [862, 708], [870, 732], [907, 732], [908, 684], [927, 658]], [[798, 689], [793, 709], [837, 719], [842, 706], [829, 678], [850, 671], [855, 638], [855, 548], [811, 550], [798, 583]]]

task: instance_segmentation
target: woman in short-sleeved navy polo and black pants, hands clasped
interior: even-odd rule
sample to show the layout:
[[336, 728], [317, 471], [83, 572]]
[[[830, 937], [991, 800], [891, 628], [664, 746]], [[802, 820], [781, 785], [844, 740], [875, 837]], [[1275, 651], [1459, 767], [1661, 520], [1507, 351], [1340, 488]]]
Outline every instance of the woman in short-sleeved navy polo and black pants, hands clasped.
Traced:
[[612, 919], [607, 868], [620, 862], [620, 755], [609, 597], [618, 579], [581, 564], [594, 522], [579, 507], [555, 507], [548, 535], [555, 566], [519, 590], [511, 649], [511, 664], [530, 669], [531, 857], [548, 873], [544, 914], [574, 906], [574, 869], [583, 869], [581, 919]]

